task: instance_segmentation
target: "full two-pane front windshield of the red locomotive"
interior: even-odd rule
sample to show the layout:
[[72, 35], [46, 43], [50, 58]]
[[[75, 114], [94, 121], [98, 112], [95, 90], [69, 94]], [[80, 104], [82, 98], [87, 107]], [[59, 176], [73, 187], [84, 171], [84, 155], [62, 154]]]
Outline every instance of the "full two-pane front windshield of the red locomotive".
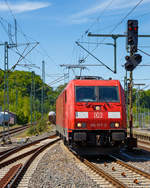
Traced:
[[116, 86], [76, 86], [76, 102], [119, 102]]

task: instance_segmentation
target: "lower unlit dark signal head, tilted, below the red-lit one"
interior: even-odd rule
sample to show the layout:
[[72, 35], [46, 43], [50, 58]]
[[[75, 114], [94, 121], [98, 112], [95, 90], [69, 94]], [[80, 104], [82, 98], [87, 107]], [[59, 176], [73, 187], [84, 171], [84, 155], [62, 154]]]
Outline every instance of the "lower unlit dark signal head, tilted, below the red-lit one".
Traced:
[[125, 63], [125, 69], [127, 71], [133, 71], [138, 64], [142, 61], [142, 56], [140, 54], [134, 54], [132, 56], [126, 56], [125, 59], [127, 62]]

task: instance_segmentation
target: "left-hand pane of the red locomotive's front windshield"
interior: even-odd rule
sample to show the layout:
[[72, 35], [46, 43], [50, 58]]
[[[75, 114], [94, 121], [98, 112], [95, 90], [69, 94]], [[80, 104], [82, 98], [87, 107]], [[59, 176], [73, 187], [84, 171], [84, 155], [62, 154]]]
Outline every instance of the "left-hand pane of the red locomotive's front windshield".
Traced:
[[95, 86], [77, 86], [76, 87], [76, 102], [96, 102], [96, 87]]

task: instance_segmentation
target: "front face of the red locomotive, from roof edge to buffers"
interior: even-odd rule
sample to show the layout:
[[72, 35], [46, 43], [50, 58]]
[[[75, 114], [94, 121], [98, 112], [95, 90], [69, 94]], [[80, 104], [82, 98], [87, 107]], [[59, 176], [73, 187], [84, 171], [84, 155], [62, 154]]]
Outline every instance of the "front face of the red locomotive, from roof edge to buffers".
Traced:
[[118, 146], [126, 139], [124, 91], [117, 80], [78, 80], [74, 84], [74, 129], [80, 145]]

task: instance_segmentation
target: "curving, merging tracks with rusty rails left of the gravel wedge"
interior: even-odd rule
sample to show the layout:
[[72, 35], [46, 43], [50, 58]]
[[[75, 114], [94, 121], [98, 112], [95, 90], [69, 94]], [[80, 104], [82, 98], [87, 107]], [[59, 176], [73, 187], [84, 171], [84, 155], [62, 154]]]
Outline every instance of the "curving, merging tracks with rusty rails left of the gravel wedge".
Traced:
[[[28, 187], [29, 179], [38, 161], [44, 155], [43, 151], [58, 142], [56, 136], [46, 137], [25, 147], [17, 147], [0, 156], [0, 187]], [[36, 160], [34, 160], [36, 158]], [[33, 166], [30, 166], [33, 162]], [[29, 171], [26, 175], [26, 171]], [[22, 178], [23, 177], [23, 178]]]

